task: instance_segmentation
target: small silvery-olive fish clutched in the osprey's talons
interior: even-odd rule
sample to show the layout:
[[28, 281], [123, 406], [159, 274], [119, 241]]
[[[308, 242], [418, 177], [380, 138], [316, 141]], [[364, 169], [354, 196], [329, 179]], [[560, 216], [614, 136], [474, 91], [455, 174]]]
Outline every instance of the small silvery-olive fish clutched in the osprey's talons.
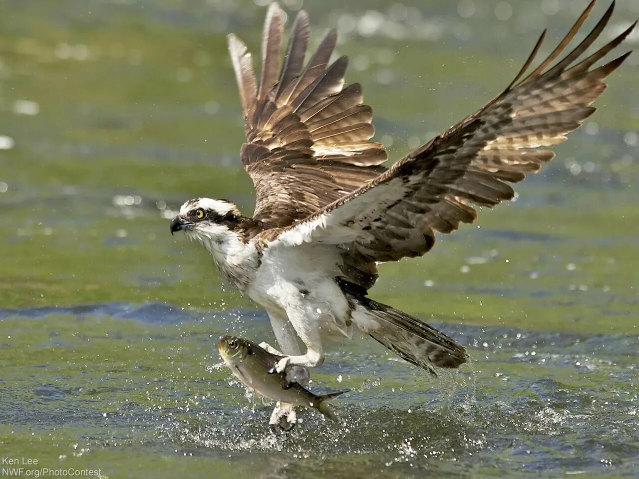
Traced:
[[249, 340], [220, 336], [217, 346], [231, 372], [254, 392], [275, 401], [315, 409], [328, 419], [339, 422], [328, 402], [348, 391], [313, 394], [302, 384], [286, 379], [286, 372], [275, 372], [275, 365], [283, 356], [269, 353]]

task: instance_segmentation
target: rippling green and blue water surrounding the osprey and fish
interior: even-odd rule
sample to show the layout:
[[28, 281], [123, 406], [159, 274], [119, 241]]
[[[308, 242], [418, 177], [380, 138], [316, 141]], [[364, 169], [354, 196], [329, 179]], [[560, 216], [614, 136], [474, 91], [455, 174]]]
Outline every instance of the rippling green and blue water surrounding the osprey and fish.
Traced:
[[[497, 94], [541, 29], [557, 42], [586, 3], [303, 6], [313, 45], [338, 27], [347, 79], [364, 84], [396, 160]], [[320, 392], [350, 388], [335, 401], [344, 425], [302, 413], [277, 438], [272, 406], [216, 347], [227, 331], [272, 341], [268, 319], [168, 225], [204, 195], [251, 212], [225, 35], [257, 52], [264, 14], [248, 1], [0, 3], [2, 468], [639, 477], [639, 55], [516, 202], [381, 267], [371, 296], [442, 328], [472, 361], [434, 380], [374, 342], [337, 344], [312, 377]], [[601, 41], [636, 17], [636, 1], [619, 1]], [[619, 54], [638, 45], [635, 33]]]

